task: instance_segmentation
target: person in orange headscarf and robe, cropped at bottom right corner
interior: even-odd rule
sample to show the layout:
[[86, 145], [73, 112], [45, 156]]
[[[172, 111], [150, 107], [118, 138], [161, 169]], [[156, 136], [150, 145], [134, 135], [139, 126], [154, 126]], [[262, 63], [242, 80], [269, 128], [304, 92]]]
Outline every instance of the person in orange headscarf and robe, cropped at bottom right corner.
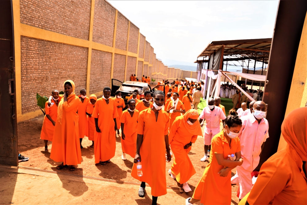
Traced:
[[262, 164], [251, 192], [239, 204], [307, 204], [306, 135], [307, 107], [297, 108], [282, 123], [286, 148]]

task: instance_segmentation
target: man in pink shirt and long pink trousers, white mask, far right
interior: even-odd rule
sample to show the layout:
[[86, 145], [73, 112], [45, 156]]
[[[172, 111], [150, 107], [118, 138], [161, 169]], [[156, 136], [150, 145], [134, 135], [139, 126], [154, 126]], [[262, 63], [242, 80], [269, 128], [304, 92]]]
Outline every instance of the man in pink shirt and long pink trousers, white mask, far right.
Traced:
[[239, 199], [243, 199], [251, 191], [253, 186], [251, 172], [258, 166], [264, 142], [269, 137], [269, 123], [263, 118], [266, 116], [266, 104], [263, 101], [255, 102], [252, 113], [253, 115], [241, 117], [242, 128], [238, 137], [244, 162], [236, 167], [237, 173], [231, 178], [232, 184], [239, 183]]

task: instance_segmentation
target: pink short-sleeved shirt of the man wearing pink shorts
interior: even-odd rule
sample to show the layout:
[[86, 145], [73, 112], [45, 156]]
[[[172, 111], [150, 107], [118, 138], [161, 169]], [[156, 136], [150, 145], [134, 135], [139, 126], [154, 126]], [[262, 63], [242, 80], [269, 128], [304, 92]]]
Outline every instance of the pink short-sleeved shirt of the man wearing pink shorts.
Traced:
[[209, 107], [205, 107], [199, 118], [206, 120], [205, 133], [212, 132], [213, 135], [216, 135], [220, 132], [220, 119], [224, 120], [226, 116], [220, 107], [214, 106], [213, 111]]

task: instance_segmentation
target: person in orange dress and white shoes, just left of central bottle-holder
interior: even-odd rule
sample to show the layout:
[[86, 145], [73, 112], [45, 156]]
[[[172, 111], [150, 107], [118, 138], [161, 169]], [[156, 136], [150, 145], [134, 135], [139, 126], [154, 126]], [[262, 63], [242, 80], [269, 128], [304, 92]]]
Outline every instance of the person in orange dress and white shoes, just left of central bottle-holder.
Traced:
[[138, 128], [138, 114], [139, 111], [135, 109], [135, 100], [128, 101], [129, 109], [122, 112], [120, 118], [122, 128], [122, 160], [126, 160], [126, 154], [131, 157], [136, 153], [136, 139]]

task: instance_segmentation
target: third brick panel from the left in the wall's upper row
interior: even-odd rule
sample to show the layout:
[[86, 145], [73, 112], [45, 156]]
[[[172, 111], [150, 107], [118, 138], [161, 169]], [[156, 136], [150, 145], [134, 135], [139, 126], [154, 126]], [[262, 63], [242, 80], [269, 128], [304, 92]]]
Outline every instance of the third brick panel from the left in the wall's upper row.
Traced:
[[128, 26], [129, 26], [129, 20], [126, 19], [122, 14], [118, 13], [115, 48], [121, 50], [127, 50]]

